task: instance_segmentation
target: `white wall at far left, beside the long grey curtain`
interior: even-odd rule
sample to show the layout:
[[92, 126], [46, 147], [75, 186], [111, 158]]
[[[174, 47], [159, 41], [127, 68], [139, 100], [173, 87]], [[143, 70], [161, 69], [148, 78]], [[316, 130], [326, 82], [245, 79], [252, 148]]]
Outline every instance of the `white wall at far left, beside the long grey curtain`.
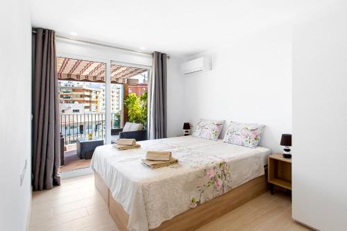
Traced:
[[0, 230], [22, 231], [31, 203], [31, 22], [26, 1], [1, 3], [0, 31]]

